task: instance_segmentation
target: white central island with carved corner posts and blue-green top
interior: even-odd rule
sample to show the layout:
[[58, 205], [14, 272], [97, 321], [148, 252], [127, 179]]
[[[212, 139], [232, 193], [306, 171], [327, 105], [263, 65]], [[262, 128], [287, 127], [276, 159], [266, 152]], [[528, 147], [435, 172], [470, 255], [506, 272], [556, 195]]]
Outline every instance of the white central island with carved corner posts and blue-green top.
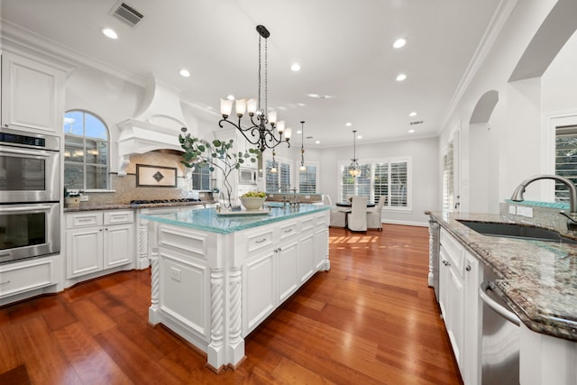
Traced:
[[329, 270], [328, 206], [214, 208], [141, 215], [149, 221], [151, 307], [219, 372], [244, 358], [244, 338], [318, 270]]

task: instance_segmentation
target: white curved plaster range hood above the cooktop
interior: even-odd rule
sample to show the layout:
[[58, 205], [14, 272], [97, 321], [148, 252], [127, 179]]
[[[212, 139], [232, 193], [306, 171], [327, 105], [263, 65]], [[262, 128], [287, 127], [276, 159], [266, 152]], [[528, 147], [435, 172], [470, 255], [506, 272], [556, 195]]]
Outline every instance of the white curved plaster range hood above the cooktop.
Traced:
[[[146, 87], [143, 108], [136, 117], [117, 124], [118, 175], [126, 175], [133, 154], [155, 150], [182, 151], [180, 129], [187, 126], [180, 106], [180, 97], [169, 87], [161, 86], [150, 78]], [[195, 122], [196, 123], [196, 122]], [[192, 132], [195, 127], [189, 127]]]

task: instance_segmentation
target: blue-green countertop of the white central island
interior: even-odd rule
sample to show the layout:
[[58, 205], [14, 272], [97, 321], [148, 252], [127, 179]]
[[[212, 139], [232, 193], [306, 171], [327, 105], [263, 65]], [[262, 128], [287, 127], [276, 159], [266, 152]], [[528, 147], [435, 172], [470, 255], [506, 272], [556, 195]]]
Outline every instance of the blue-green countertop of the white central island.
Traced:
[[181, 210], [177, 213], [140, 215], [144, 219], [218, 234], [230, 234], [260, 225], [329, 210], [330, 206], [301, 204], [299, 207], [273, 207], [268, 213], [252, 215], [219, 215], [215, 208]]

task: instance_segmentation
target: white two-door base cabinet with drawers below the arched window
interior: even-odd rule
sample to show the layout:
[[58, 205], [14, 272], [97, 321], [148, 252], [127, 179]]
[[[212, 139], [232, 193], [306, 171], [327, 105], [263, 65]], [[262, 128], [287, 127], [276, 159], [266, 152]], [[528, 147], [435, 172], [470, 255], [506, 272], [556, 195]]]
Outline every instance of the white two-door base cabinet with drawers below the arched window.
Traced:
[[67, 214], [67, 278], [77, 278], [132, 263], [133, 222], [132, 210]]

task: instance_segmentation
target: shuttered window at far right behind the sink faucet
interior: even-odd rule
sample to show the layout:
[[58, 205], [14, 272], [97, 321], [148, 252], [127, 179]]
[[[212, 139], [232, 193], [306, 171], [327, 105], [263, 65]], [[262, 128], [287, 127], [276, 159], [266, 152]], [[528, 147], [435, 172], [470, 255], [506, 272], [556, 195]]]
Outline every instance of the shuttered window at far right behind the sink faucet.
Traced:
[[[577, 184], [577, 125], [555, 129], [555, 174]], [[569, 202], [569, 191], [555, 181], [555, 202]]]

